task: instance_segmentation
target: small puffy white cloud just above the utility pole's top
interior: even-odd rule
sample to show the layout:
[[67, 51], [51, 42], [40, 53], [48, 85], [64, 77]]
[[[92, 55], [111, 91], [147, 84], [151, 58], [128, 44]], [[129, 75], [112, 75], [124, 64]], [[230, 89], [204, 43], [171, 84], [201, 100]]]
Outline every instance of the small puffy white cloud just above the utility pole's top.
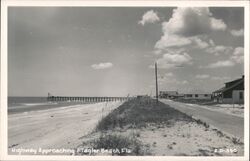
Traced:
[[172, 68], [192, 64], [192, 58], [187, 53], [183, 54], [164, 54], [157, 60], [159, 68]]

